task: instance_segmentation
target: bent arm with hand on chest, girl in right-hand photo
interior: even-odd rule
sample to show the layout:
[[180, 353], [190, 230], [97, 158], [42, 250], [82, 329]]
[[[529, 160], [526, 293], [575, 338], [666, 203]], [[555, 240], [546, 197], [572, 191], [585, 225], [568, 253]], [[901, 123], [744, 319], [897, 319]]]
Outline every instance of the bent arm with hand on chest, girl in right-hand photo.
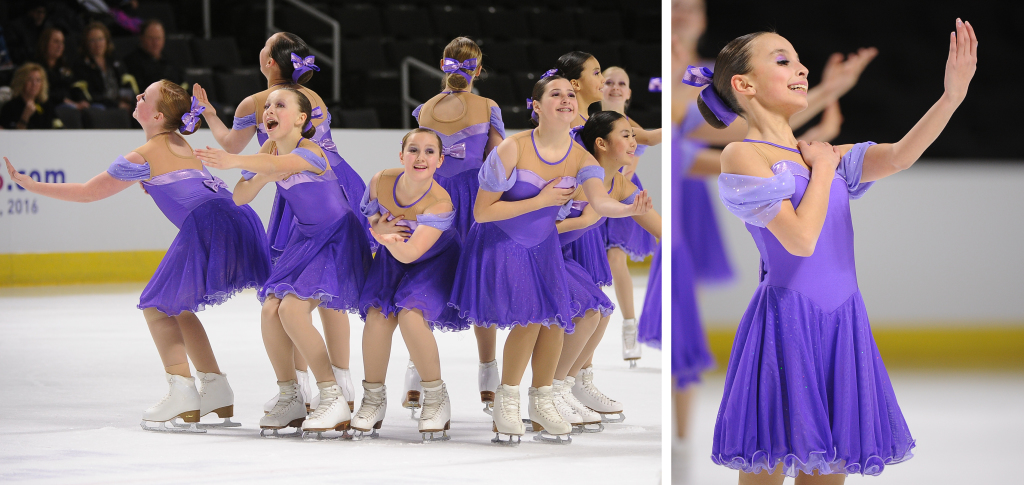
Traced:
[[[797, 146], [804, 161], [811, 166], [811, 180], [807, 184], [807, 190], [800, 201], [799, 208], [794, 209], [788, 199], [778, 202], [775, 208], [777, 214], [774, 217], [766, 216], [765, 218], [770, 220], [764, 227], [768, 228], [791, 254], [808, 257], [814, 254], [818, 236], [821, 235], [821, 228], [824, 226], [825, 215], [828, 213], [828, 195], [833, 178], [836, 176], [836, 167], [840, 162], [840, 153], [838, 147], [823, 142], [800, 141]], [[722, 177], [719, 183], [728, 180], [730, 175], [763, 179], [775, 177], [754, 148], [745, 143], [729, 144], [722, 151]], [[759, 182], [769, 181], [759, 180]], [[791, 183], [793, 183], [792, 175]], [[730, 210], [733, 209], [730, 207]]]

